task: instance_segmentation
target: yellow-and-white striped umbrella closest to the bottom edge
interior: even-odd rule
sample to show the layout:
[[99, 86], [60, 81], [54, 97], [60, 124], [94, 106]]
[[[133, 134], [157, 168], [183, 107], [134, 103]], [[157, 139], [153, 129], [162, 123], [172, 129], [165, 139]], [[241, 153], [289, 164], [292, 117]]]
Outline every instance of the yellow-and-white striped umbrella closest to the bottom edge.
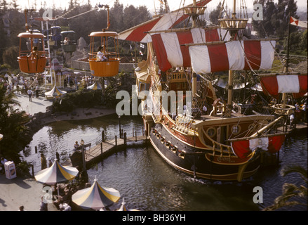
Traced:
[[82, 189], [72, 195], [73, 202], [85, 210], [100, 210], [102, 207], [116, 203], [119, 199], [119, 191], [101, 187], [96, 179], [90, 188]]

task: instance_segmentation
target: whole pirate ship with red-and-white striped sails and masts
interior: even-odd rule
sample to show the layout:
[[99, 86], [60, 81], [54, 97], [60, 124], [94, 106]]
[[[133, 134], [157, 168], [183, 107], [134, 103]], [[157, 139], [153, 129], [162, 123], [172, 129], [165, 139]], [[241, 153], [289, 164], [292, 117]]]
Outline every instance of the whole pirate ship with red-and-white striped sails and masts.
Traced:
[[[257, 71], [272, 68], [276, 39], [245, 38], [248, 19], [236, 16], [235, 0], [232, 15], [226, 13], [220, 18], [219, 27], [198, 26], [199, 15], [209, 1], [194, 1], [178, 11], [156, 16], [121, 32], [119, 39], [147, 43], [147, 60], [138, 63], [135, 70], [136, 90], [145, 130], [157, 153], [194, 177], [241, 181], [257, 172], [262, 151], [280, 150], [286, 132], [276, 128], [294, 107], [283, 98], [274, 104], [272, 114], [256, 112], [253, 103], [241, 104], [236, 112], [234, 72], [253, 71], [263, 89], [272, 89], [266, 91], [272, 95], [306, 93], [307, 85], [292, 90], [283, 87], [291, 83], [300, 86], [302, 80], [307, 84], [307, 74], [258, 75]], [[188, 19], [192, 23], [185, 22]], [[178, 28], [180, 23], [191, 27]], [[217, 98], [206, 79], [214, 72], [226, 71], [227, 101]], [[204, 105], [207, 113], [202, 112]]]

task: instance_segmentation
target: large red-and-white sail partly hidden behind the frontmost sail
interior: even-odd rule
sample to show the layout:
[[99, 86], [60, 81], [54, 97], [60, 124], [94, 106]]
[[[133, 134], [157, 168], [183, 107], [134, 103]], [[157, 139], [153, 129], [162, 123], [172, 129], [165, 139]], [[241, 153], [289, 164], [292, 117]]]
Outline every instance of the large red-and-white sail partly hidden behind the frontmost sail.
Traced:
[[[194, 28], [181, 32], [152, 34], [152, 45], [156, 52], [159, 69], [162, 71], [177, 67], [191, 67], [189, 49], [183, 44], [198, 44], [220, 41], [225, 30]], [[229, 35], [227, 34], [229, 37]]]

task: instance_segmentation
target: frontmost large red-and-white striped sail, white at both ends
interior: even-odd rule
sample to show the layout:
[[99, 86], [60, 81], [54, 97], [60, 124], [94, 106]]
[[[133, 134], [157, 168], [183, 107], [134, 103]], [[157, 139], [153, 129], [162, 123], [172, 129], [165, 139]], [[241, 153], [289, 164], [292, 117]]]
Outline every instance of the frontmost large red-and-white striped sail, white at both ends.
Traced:
[[225, 70], [269, 70], [276, 41], [229, 41], [208, 46], [189, 46], [192, 69], [196, 73]]

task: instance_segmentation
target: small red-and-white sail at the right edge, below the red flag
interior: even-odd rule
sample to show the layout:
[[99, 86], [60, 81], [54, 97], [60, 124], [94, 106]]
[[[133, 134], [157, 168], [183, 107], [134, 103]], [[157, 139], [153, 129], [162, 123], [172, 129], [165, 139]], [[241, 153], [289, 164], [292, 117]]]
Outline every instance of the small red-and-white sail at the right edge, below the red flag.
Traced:
[[307, 93], [307, 73], [261, 76], [260, 82], [263, 92], [274, 98], [279, 98], [281, 93], [293, 94], [293, 98]]

